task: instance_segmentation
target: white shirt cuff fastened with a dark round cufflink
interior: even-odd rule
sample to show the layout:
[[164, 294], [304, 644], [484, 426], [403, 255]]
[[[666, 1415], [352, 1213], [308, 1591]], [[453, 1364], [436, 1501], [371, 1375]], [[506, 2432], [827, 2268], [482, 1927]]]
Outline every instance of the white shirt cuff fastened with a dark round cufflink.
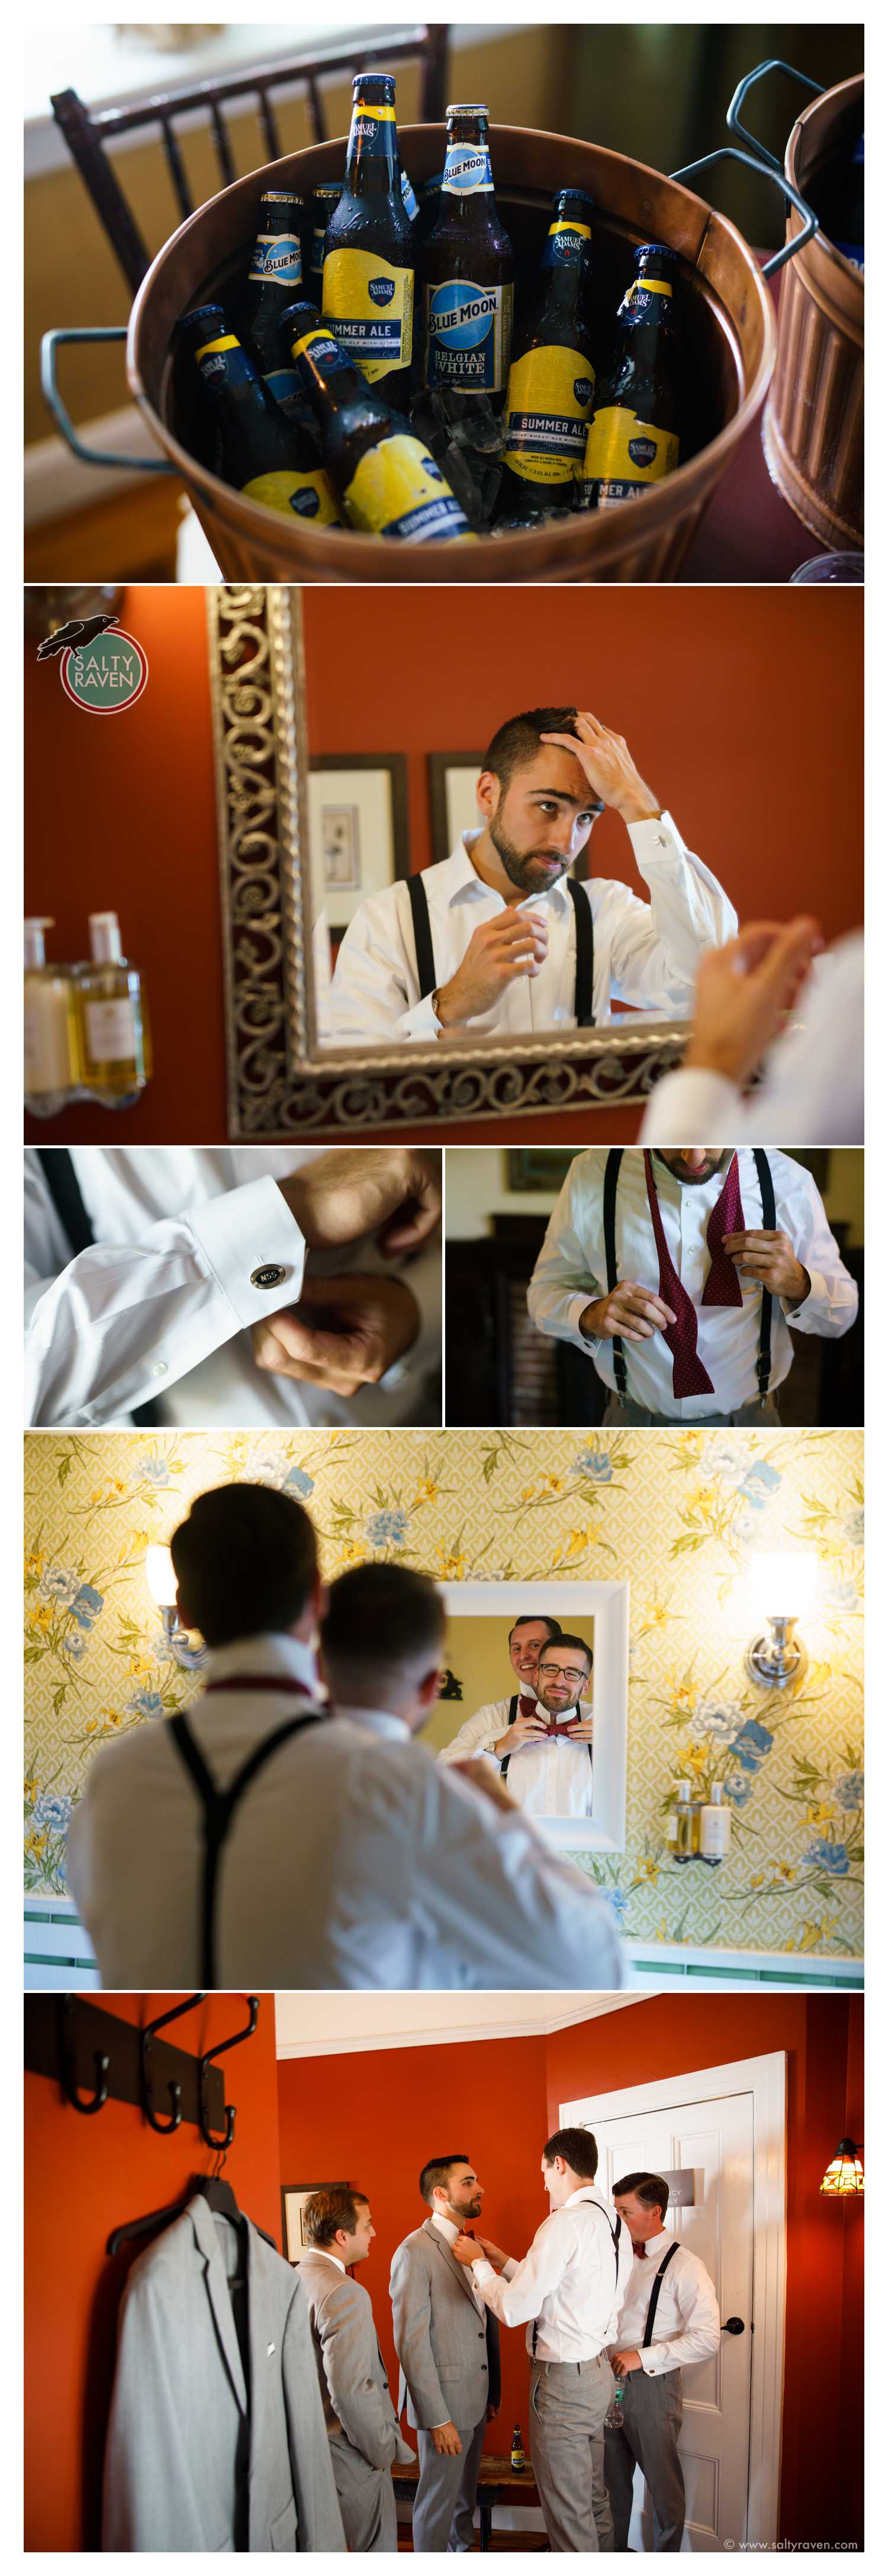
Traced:
[[296, 1303], [306, 1239], [275, 1180], [245, 1180], [239, 1190], [190, 1208], [188, 1221], [239, 1324], [257, 1324]]

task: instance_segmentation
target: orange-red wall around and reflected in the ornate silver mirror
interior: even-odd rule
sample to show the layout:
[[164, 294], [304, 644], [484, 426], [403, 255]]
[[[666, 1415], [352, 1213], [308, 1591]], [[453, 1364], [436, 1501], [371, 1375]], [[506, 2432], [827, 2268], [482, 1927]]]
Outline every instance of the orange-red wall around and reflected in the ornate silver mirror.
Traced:
[[[26, 909], [57, 917], [54, 956], [82, 956], [85, 914], [116, 904], [157, 1069], [134, 1110], [64, 1113], [33, 1136], [214, 1144], [227, 1105], [203, 592], [129, 587], [121, 623], [149, 685], [113, 719], [75, 708], [26, 644]], [[741, 920], [806, 909], [826, 938], [862, 920], [860, 592], [322, 587], [304, 592], [304, 634], [309, 744], [407, 752], [414, 866], [430, 858], [425, 752], [479, 750], [520, 706], [579, 701], [628, 737]], [[613, 814], [595, 868], [633, 878]], [[636, 1123], [607, 1113], [607, 1139]], [[484, 1144], [486, 1126], [450, 1133]], [[528, 1133], [564, 1141], [564, 1121]]]

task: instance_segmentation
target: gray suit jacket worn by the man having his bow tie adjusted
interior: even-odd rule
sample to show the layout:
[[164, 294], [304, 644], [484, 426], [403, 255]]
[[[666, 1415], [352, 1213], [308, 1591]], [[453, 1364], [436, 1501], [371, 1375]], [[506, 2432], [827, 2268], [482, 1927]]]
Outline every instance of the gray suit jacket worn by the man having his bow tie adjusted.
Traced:
[[394, 2254], [391, 2308], [407, 2424], [481, 2424], [499, 2406], [499, 2326], [489, 2311], [479, 2316], [468, 2269], [432, 2218]]

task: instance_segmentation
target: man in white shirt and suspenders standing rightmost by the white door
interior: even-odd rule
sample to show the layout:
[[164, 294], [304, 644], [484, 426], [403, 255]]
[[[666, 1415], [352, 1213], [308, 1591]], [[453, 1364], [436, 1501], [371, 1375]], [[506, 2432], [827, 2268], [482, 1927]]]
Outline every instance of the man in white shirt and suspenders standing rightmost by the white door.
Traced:
[[607, 2424], [605, 2432], [613, 2548], [628, 2550], [638, 2463], [651, 2499], [654, 2550], [680, 2550], [682, 2367], [718, 2352], [718, 2298], [700, 2257], [680, 2236], [667, 2236], [669, 2187], [659, 2174], [623, 2174], [613, 2187], [613, 2205], [633, 2246], [618, 2339], [610, 2347], [615, 2378], [625, 2388], [623, 2424]]

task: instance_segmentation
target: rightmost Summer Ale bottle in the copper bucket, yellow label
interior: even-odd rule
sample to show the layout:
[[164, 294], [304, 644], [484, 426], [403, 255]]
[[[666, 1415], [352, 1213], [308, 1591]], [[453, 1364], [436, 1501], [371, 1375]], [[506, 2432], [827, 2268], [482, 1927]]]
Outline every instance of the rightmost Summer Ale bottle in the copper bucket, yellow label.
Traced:
[[677, 353], [672, 276], [677, 252], [641, 242], [636, 278], [618, 312], [618, 345], [607, 381], [595, 389], [584, 456], [584, 495], [605, 510], [674, 474]]

